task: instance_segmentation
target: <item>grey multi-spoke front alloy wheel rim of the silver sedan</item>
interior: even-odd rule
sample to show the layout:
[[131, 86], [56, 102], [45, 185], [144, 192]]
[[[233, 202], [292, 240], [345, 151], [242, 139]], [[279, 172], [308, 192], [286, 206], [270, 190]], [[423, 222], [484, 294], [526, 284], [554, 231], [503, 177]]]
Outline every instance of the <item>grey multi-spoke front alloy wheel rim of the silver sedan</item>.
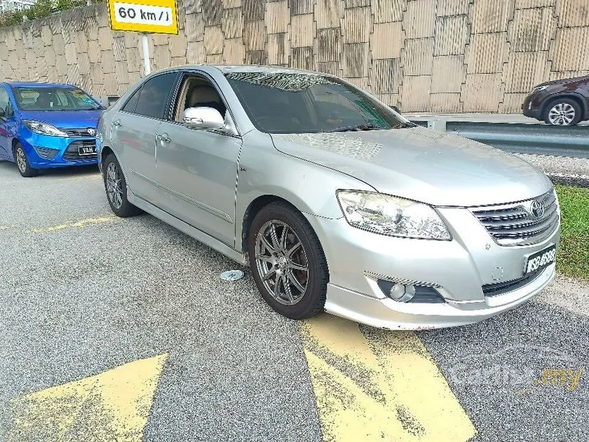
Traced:
[[297, 304], [307, 291], [309, 264], [299, 236], [283, 221], [262, 225], [255, 238], [255, 262], [264, 288], [277, 302]]

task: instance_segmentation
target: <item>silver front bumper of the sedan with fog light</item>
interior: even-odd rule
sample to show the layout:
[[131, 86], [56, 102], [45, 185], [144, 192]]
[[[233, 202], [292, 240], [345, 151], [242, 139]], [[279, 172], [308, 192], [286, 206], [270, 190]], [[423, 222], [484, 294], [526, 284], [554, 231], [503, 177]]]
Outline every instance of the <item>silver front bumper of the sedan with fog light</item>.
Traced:
[[[379, 328], [419, 330], [462, 326], [488, 319], [526, 302], [555, 275], [551, 265], [504, 293], [486, 296], [483, 286], [523, 277], [524, 257], [560, 243], [560, 221], [544, 241], [505, 247], [495, 243], [464, 208], [439, 208], [452, 241], [395, 238], [352, 228], [343, 218], [307, 215], [329, 267], [325, 310]], [[435, 284], [441, 303], [397, 302], [383, 293], [388, 280]]]

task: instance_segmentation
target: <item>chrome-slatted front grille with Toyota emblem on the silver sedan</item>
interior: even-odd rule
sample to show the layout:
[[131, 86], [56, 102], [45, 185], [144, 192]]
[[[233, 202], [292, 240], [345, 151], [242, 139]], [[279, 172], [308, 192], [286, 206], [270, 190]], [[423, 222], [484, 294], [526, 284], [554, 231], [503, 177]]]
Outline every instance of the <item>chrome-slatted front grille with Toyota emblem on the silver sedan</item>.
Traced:
[[[536, 208], [543, 205], [544, 212], [539, 214], [534, 205]], [[559, 219], [554, 191], [519, 203], [477, 207], [471, 211], [499, 245], [540, 243], [552, 234]]]

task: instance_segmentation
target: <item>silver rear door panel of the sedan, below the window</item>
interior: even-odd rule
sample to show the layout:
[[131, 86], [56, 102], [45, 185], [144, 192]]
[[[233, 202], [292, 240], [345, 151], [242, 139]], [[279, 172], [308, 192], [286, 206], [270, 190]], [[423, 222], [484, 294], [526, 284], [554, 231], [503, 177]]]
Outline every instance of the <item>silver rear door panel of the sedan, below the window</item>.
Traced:
[[112, 119], [111, 140], [131, 191], [158, 206], [155, 191], [155, 130], [160, 121], [127, 112]]

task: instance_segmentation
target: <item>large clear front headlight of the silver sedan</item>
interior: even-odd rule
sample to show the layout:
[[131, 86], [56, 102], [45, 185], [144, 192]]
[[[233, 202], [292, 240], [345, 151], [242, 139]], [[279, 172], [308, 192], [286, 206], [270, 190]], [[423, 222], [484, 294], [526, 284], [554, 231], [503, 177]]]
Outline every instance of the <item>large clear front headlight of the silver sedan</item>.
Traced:
[[452, 239], [444, 221], [427, 204], [375, 192], [338, 191], [349, 225], [368, 232], [406, 238]]

